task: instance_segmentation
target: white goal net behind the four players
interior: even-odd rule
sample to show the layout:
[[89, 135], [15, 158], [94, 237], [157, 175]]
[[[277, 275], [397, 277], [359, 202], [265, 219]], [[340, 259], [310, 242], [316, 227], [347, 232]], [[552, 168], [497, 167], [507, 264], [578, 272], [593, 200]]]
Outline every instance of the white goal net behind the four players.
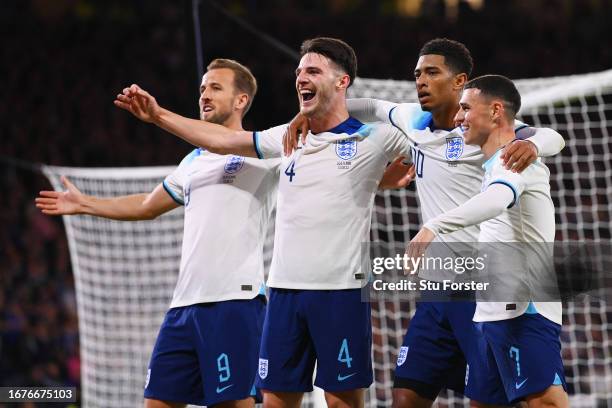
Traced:
[[[556, 205], [557, 239], [610, 240], [612, 231], [612, 71], [516, 82], [521, 119], [552, 127], [564, 151], [546, 160]], [[351, 97], [416, 101], [414, 83], [358, 79]], [[178, 159], [177, 159], [178, 160]], [[117, 196], [151, 191], [173, 167], [44, 167], [56, 190], [61, 175], [84, 193]], [[86, 407], [140, 406], [149, 356], [178, 274], [182, 209], [154, 221], [64, 217], [77, 291]], [[401, 244], [419, 228], [414, 187], [376, 197], [372, 240]], [[267, 253], [270, 254], [269, 234]], [[393, 370], [415, 310], [405, 298], [372, 305], [375, 384], [367, 406], [391, 406]], [[563, 359], [572, 407], [612, 404], [612, 304], [583, 298], [564, 304]], [[307, 398], [305, 404], [313, 404]], [[438, 407], [468, 406], [444, 393]]]

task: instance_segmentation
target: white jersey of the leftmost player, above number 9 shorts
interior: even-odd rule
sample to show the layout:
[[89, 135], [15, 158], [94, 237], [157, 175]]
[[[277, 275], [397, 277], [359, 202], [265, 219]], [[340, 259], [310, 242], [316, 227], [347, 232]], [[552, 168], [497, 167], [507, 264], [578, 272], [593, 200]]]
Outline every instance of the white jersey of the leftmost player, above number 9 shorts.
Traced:
[[166, 177], [164, 188], [185, 206], [171, 308], [265, 293], [263, 244], [279, 163], [195, 149]]

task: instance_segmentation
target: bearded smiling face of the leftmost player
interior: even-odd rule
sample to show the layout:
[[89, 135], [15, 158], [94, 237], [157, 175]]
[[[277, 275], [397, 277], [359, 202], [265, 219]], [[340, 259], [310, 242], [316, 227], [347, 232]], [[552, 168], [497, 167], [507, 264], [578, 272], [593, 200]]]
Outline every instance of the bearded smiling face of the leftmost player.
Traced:
[[200, 119], [224, 124], [235, 112], [238, 97], [231, 69], [216, 68], [206, 72], [200, 85]]

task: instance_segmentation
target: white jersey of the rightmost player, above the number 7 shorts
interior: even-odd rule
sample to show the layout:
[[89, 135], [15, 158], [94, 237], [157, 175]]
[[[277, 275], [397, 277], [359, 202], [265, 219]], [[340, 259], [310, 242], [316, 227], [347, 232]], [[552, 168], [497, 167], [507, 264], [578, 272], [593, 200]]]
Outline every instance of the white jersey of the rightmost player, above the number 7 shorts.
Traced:
[[[552, 243], [555, 240], [555, 208], [550, 196], [550, 172], [537, 159], [522, 173], [507, 170], [498, 151], [483, 164], [485, 176], [482, 191], [494, 184], [507, 186], [514, 194], [514, 201], [499, 216], [480, 224], [479, 242], [492, 251], [502, 254], [498, 265], [490, 265], [492, 271], [525, 278], [515, 279], [535, 297], [543, 298], [537, 285], [556, 288], [552, 272]], [[524, 243], [506, 245], [500, 243]], [[497, 243], [497, 244], [496, 244]], [[509, 262], [509, 251], [517, 251], [515, 261]], [[495, 262], [490, 260], [489, 262]], [[474, 321], [506, 320], [523, 313], [540, 313], [547, 319], [561, 324], [561, 302], [518, 302], [508, 307], [507, 302], [477, 302]]]

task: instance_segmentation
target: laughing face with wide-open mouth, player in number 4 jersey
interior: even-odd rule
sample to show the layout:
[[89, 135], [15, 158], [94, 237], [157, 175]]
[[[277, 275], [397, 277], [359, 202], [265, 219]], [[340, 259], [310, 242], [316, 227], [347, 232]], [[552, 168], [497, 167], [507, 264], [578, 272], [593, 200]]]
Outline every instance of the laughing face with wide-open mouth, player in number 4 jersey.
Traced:
[[[307, 53], [295, 70], [295, 88], [300, 102], [300, 113], [307, 117], [324, 114], [338, 98], [350, 80], [327, 57]], [[340, 86], [338, 86], [340, 84]]]

